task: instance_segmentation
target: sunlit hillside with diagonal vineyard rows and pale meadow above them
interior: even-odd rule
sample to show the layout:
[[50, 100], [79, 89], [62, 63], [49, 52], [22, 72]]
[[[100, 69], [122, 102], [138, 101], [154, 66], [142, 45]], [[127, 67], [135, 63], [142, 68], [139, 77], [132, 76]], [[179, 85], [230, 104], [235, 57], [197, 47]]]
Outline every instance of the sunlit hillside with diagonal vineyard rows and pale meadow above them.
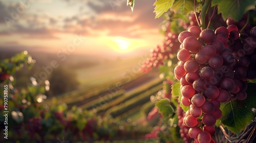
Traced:
[[[112, 115], [115, 120], [151, 128], [147, 125], [145, 109], [142, 107], [162, 88], [163, 80], [159, 78], [158, 70], [151, 70], [146, 74], [135, 70], [139, 60], [140, 58], [132, 58], [79, 69], [76, 71], [82, 83], [79, 89], [61, 94], [55, 99], [66, 103], [69, 109], [77, 106], [101, 116]], [[49, 99], [45, 103], [52, 105]]]

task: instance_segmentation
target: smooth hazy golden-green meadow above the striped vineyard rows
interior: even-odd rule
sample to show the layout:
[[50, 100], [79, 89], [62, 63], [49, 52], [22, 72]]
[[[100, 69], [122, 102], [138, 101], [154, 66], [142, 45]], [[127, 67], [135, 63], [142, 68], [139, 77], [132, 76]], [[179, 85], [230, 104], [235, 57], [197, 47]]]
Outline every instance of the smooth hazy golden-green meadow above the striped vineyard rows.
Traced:
[[90, 68], [83, 68], [76, 71], [79, 82], [82, 86], [97, 86], [117, 80], [130, 80], [139, 72], [142, 58], [135, 57], [102, 63]]

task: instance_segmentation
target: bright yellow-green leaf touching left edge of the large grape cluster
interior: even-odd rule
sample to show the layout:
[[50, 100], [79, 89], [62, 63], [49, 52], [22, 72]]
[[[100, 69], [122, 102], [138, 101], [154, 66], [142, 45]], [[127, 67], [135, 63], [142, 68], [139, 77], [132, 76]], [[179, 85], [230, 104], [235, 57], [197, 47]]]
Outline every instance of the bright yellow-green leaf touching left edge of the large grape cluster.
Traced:
[[[176, 82], [172, 85], [172, 99], [177, 99], [178, 98], [178, 102], [180, 103], [181, 100], [181, 92], [180, 92], [180, 82]], [[174, 101], [173, 101], [174, 102]], [[183, 111], [187, 111], [188, 107], [184, 106], [180, 103], [180, 107], [183, 109]]]

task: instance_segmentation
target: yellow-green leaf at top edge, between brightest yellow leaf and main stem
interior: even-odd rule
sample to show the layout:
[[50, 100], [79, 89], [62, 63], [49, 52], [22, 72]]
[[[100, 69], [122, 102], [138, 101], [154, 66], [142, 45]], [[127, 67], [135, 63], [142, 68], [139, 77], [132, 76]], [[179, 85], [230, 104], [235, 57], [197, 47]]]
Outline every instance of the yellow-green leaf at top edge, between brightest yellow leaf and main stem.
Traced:
[[188, 15], [191, 11], [194, 11], [194, 1], [178, 0], [174, 2], [173, 7], [170, 9], [175, 13]]

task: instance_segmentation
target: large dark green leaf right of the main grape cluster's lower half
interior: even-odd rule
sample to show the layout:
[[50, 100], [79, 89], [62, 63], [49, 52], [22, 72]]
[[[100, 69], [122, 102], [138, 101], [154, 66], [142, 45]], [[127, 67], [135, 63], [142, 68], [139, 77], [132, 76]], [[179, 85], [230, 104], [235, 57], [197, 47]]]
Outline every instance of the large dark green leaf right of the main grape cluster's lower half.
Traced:
[[248, 83], [247, 98], [244, 101], [232, 100], [221, 104], [222, 117], [217, 125], [222, 124], [234, 133], [244, 130], [251, 123], [255, 114], [251, 110], [256, 107], [256, 84]]

